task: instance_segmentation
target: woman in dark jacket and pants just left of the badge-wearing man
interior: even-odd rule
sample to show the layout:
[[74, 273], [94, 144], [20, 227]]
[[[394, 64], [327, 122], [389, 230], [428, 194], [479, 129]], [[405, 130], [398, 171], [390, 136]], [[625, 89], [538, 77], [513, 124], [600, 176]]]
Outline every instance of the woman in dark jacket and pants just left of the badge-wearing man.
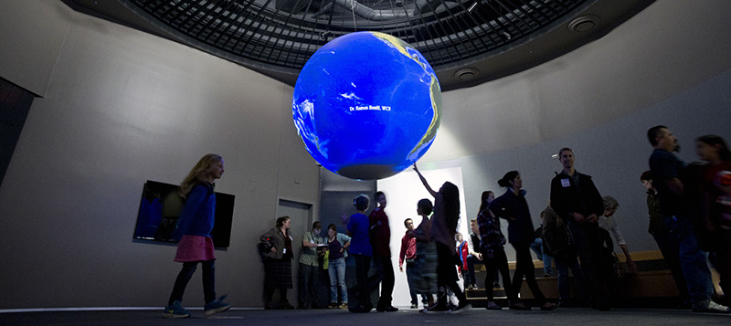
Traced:
[[[498, 184], [507, 190], [505, 194], [495, 198], [488, 208], [495, 216], [508, 220], [508, 240], [515, 249], [515, 273], [511, 289], [513, 293], [508, 297], [518, 298], [525, 278], [535, 300], [543, 302], [541, 310], [555, 310], [558, 306], [546, 300], [535, 281], [535, 267], [530, 252], [535, 235], [528, 202], [525, 201], [525, 192], [522, 190], [523, 179], [517, 171], [510, 171], [498, 180]], [[517, 302], [511, 302], [510, 309], [530, 309], [527, 306], [517, 306], [515, 303]]]

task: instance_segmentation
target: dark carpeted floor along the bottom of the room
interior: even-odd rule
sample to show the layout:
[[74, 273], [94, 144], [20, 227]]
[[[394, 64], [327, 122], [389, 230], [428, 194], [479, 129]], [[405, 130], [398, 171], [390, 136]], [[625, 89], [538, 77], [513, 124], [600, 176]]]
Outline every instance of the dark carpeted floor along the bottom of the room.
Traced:
[[694, 313], [690, 310], [630, 310], [607, 312], [588, 308], [555, 311], [473, 309], [458, 315], [423, 314], [402, 308], [397, 312], [366, 314], [346, 310], [249, 310], [232, 309], [206, 318], [202, 310], [180, 320], [162, 318], [161, 310], [0, 310], [0, 325], [731, 325], [729, 314]]

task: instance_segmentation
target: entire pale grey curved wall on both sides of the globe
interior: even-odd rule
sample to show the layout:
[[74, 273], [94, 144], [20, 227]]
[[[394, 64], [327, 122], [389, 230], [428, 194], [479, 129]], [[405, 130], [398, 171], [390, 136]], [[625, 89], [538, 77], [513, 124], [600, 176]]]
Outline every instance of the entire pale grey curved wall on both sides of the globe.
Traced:
[[[424, 160], [461, 159], [468, 216], [483, 188], [518, 169], [537, 216], [557, 170], [550, 154], [574, 147], [577, 168], [620, 200], [620, 224], [642, 221], [625, 227], [630, 248], [650, 247], [636, 182], [650, 152], [643, 132], [668, 124], [685, 148], [705, 132], [729, 138], [731, 3], [694, 4], [656, 2], [566, 56], [445, 93]], [[260, 306], [256, 235], [279, 199], [317, 200], [318, 168], [291, 128], [292, 89], [58, 2], [9, 2], [0, 27], [0, 77], [44, 96], [0, 187], [0, 308], [162, 306], [179, 266], [175, 247], [132, 242], [142, 185], [179, 182], [206, 152], [226, 159], [217, 190], [237, 196], [217, 288]], [[187, 306], [203, 304], [197, 278], [187, 292]]]

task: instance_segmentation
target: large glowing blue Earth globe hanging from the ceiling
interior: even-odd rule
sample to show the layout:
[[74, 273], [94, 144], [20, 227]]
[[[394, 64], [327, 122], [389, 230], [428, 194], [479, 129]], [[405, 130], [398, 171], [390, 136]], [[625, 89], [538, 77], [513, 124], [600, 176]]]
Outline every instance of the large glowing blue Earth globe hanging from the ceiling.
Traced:
[[351, 33], [325, 44], [304, 65], [292, 116], [315, 161], [348, 178], [382, 179], [429, 150], [440, 126], [440, 83], [408, 43]]

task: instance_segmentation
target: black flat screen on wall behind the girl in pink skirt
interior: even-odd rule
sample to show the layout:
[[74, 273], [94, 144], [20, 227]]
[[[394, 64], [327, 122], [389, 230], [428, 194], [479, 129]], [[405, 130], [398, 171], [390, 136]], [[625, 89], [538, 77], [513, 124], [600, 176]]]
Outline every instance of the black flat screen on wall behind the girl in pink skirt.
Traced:
[[[185, 205], [177, 184], [147, 180], [134, 228], [134, 239], [175, 243], [173, 231]], [[234, 195], [216, 193], [216, 222], [211, 232], [214, 247], [228, 247], [234, 215]]]

